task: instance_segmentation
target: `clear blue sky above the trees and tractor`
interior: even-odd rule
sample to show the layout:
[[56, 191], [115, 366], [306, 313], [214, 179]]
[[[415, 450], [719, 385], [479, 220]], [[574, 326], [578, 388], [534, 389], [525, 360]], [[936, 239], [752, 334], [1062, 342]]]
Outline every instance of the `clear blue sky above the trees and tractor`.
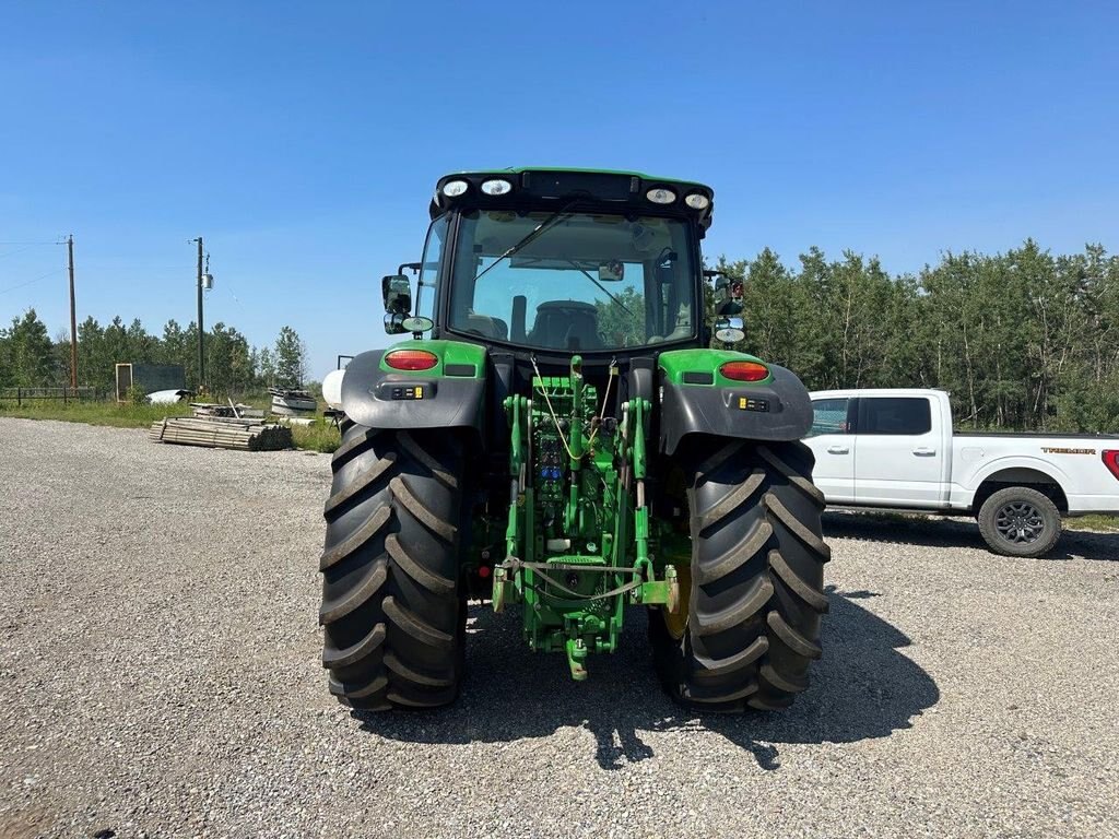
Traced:
[[[708, 256], [1119, 247], [1109, 2], [0, 6], [0, 322], [283, 324], [316, 376], [384, 346], [439, 176], [711, 183]], [[9, 244], [12, 243], [12, 244]]]

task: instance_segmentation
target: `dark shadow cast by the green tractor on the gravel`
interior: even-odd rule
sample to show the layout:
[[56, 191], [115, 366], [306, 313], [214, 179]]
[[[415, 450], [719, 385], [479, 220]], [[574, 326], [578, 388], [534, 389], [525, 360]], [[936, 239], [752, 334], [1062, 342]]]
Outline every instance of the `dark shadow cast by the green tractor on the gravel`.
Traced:
[[667, 698], [652, 668], [646, 621], [633, 610], [613, 657], [592, 657], [590, 679], [571, 680], [558, 654], [533, 654], [519, 614], [473, 605], [469, 672], [449, 708], [426, 713], [351, 711], [361, 728], [410, 743], [502, 743], [581, 726], [595, 739], [594, 760], [619, 770], [653, 756], [642, 733], [714, 732], [750, 752], [763, 770], [780, 769], [780, 744], [854, 743], [887, 737], [937, 704], [932, 677], [899, 652], [910, 640], [858, 604], [873, 592], [829, 588], [824, 659], [792, 708], [774, 714], [703, 714]]

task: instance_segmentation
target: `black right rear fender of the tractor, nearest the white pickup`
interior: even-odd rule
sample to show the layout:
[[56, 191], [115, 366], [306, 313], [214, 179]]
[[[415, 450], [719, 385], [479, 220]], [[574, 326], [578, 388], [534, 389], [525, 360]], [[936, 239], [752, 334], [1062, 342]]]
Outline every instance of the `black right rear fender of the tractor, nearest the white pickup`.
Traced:
[[787, 442], [812, 426], [812, 400], [791, 370], [767, 364], [765, 384], [689, 385], [662, 379], [660, 449], [668, 455], [688, 434]]

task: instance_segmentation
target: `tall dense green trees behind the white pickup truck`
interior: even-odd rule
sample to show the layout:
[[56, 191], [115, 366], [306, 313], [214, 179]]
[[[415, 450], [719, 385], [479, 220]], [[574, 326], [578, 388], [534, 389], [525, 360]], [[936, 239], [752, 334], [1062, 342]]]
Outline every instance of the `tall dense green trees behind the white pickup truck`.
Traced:
[[743, 280], [737, 345], [812, 390], [935, 387], [974, 428], [1119, 432], [1119, 256], [944, 254], [915, 275], [819, 249], [721, 261]]

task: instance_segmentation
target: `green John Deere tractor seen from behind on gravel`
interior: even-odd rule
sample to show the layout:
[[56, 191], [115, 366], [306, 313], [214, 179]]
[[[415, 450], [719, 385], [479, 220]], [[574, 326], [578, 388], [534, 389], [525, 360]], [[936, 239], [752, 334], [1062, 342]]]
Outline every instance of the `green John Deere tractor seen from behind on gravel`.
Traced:
[[829, 556], [811, 405], [783, 367], [709, 349], [743, 337], [741, 286], [703, 268], [713, 197], [637, 172], [439, 180], [422, 261], [383, 281], [408, 337], [325, 386], [345, 418], [319, 620], [342, 703], [453, 701], [471, 600], [519, 611], [577, 680], [640, 606], [680, 703], [777, 709], [808, 686]]

